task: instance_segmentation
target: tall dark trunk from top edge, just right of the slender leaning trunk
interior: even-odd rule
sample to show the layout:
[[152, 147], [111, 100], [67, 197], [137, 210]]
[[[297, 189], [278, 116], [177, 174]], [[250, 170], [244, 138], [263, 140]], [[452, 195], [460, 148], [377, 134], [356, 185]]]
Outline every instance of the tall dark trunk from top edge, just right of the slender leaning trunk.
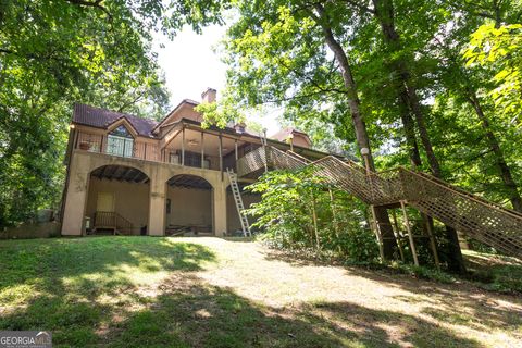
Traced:
[[[433, 151], [433, 146], [425, 124], [424, 113], [422, 112], [417, 90], [413, 86], [413, 83], [411, 82], [411, 75], [407, 69], [407, 62], [403, 58], [400, 57], [402, 47], [399, 34], [397, 33], [397, 29], [395, 27], [394, 2], [393, 0], [372, 0], [372, 2], [374, 7], [373, 14], [381, 25], [384, 40], [388, 46], [389, 52], [391, 53], [390, 55], [398, 57], [393, 65], [396, 70], [396, 75], [399, 78], [399, 82], [402, 84], [401, 88], [406, 88], [408, 105], [415, 116], [417, 126], [419, 128], [422, 145], [424, 147], [424, 150], [426, 151], [430, 169], [434, 176], [442, 177], [440, 164], [435, 156], [435, 152]], [[446, 226], [446, 237], [450, 241], [448, 250], [449, 270], [458, 273], [464, 273], [465, 266], [462, 258], [462, 252], [460, 250], [460, 245], [458, 243], [457, 231], [450, 226]]]

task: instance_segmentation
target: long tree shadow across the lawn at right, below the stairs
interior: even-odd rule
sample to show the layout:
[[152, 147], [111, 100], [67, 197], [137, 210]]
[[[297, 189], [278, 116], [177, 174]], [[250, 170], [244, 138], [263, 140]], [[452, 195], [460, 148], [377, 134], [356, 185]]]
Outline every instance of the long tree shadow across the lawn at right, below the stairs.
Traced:
[[[301, 258], [298, 254], [277, 250], [268, 250], [265, 258], [285, 261], [295, 266], [332, 265], [327, 260]], [[522, 325], [520, 296], [487, 291], [465, 282], [443, 284], [419, 279], [390, 269], [371, 269], [362, 265], [344, 268], [351, 276], [364, 277], [410, 293], [411, 295], [394, 298], [409, 303], [427, 303], [428, 307], [423, 308], [422, 313], [443, 323], [465, 325], [477, 331], [494, 328], [512, 333], [517, 333]], [[520, 269], [517, 271], [520, 272]], [[508, 302], [510, 306], [506, 307], [498, 300]]]

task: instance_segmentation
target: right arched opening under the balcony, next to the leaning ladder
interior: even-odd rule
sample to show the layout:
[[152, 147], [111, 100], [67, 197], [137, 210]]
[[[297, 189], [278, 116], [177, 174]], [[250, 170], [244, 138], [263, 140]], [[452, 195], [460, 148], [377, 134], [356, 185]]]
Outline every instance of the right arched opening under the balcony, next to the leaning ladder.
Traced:
[[167, 181], [166, 231], [170, 236], [213, 235], [212, 185], [196, 175], [176, 175]]

